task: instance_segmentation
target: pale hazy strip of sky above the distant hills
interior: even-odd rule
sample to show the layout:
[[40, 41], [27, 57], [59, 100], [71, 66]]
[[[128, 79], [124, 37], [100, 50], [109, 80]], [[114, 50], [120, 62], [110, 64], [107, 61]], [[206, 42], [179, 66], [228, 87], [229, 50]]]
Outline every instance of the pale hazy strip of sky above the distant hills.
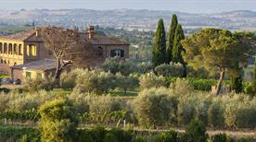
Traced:
[[256, 10], [256, 0], [0, 0], [0, 9], [155, 9], [190, 13]]

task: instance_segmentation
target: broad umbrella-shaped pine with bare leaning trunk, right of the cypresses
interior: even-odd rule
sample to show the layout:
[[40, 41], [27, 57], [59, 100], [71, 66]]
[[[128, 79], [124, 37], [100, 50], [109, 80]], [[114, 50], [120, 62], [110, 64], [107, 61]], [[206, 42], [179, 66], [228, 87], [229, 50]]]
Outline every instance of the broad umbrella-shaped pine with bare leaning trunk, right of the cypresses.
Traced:
[[216, 95], [220, 94], [224, 74], [237, 77], [239, 67], [248, 63], [245, 54], [249, 46], [245, 46], [246, 36], [233, 34], [228, 30], [206, 29], [200, 30], [182, 42], [186, 53], [183, 57], [195, 69], [205, 67], [211, 75], [218, 74]]

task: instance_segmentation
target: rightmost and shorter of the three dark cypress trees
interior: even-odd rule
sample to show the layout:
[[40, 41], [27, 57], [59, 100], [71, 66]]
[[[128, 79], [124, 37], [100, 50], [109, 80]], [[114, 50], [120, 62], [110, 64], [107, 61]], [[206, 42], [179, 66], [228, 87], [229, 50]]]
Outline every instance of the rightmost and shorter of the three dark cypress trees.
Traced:
[[178, 24], [175, 30], [174, 42], [173, 42], [173, 63], [180, 63], [184, 67], [183, 77], [186, 77], [186, 63], [182, 57], [182, 53], [185, 52], [181, 41], [185, 39], [182, 26]]

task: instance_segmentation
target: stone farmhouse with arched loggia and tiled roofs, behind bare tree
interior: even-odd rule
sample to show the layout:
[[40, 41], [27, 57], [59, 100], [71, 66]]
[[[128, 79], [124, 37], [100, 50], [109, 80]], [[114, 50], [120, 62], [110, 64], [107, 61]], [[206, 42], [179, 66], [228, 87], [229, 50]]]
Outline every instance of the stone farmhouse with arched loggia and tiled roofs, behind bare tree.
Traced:
[[[39, 29], [25, 30], [0, 37], [0, 73], [19, 80], [42, 79], [54, 73], [56, 62], [53, 53], [45, 48], [38, 32]], [[90, 48], [98, 49], [99, 58], [129, 57], [129, 44], [125, 41], [96, 34], [93, 26], [80, 34], [90, 43]]]

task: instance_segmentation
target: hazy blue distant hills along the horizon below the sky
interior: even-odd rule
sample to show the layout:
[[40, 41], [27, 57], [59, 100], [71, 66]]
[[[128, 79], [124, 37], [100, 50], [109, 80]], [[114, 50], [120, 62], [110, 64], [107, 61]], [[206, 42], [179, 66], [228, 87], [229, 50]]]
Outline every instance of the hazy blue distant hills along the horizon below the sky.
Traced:
[[[20, 25], [35, 22], [37, 26], [55, 25], [85, 29], [88, 25], [128, 30], [155, 30], [159, 18], [169, 24], [177, 14], [186, 29], [217, 27], [228, 30], [256, 30], [256, 12], [248, 10], [215, 14], [189, 14], [160, 10], [90, 10], [90, 9], [33, 9], [0, 11], [0, 25]], [[166, 26], [168, 28], [168, 26]]]

